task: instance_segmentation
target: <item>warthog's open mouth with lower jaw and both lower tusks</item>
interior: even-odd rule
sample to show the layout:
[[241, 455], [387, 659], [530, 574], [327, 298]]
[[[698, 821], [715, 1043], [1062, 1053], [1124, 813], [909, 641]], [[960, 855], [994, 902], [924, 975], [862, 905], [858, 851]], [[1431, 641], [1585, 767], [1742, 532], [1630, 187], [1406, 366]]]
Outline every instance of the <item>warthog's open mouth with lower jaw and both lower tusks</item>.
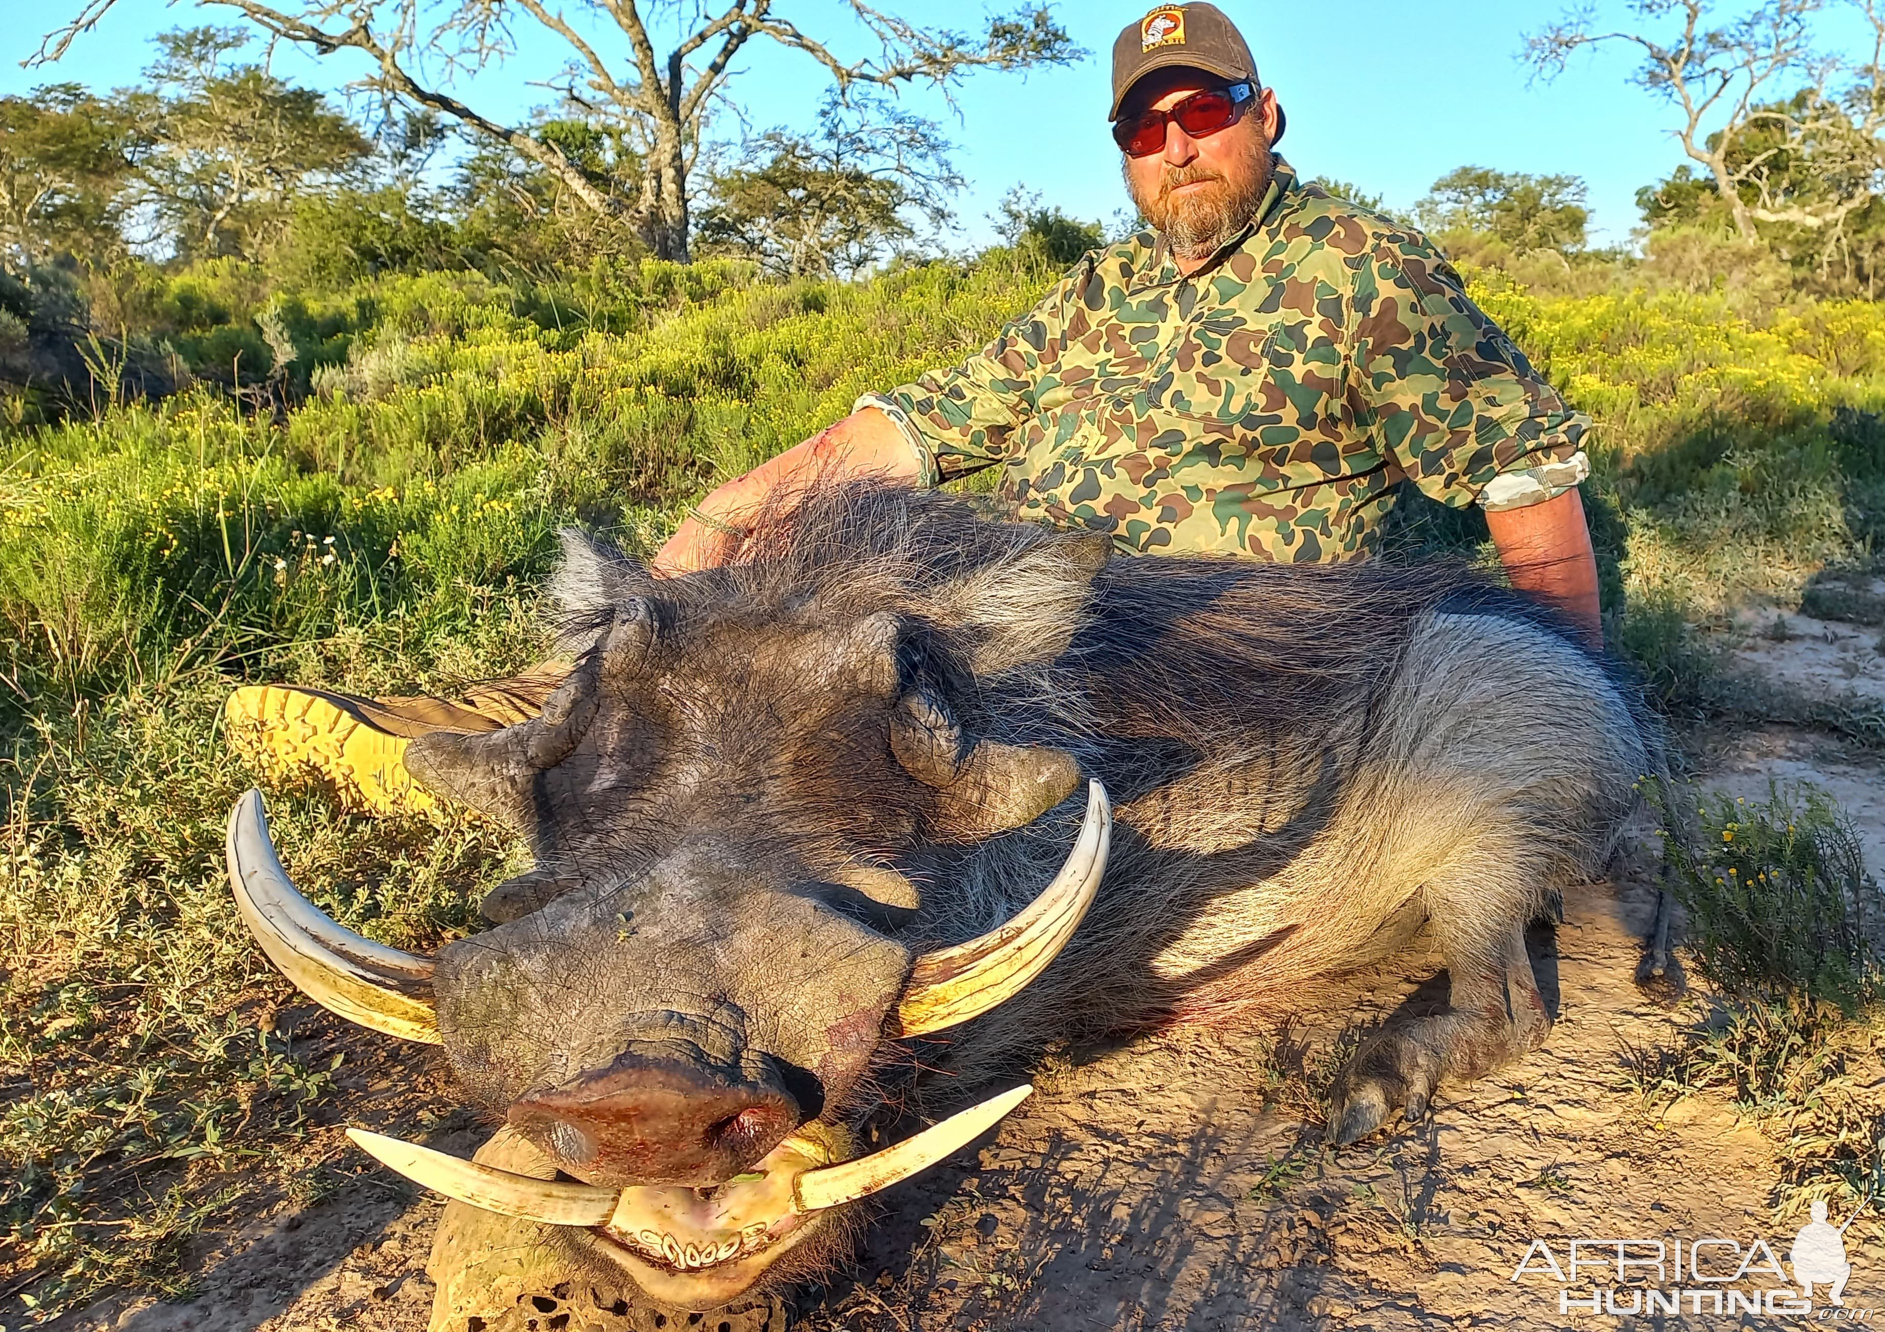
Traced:
[[[628, 1268], [652, 1298], [711, 1309], [737, 1298], [816, 1228], [858, 1202], [941, 1161], [1020, 1106], [1033, 1087], [990, 1096], [905, 1142], [833, 1162], [839, 1132], [805, 1125], [752, 1170], [713, 1189], [631, 1185], [601, 1189], [554, 1179], [554, 1162], [513, 1129], [507, 1159], [530, 1174], [420, 1147], [364, 1129], [347, 1136], [383, 1164], [447, 1198], [500, 1215], [566, 1226], [584, 1251]], [[494, 1140], [496, 1142], [496, 1140]]]

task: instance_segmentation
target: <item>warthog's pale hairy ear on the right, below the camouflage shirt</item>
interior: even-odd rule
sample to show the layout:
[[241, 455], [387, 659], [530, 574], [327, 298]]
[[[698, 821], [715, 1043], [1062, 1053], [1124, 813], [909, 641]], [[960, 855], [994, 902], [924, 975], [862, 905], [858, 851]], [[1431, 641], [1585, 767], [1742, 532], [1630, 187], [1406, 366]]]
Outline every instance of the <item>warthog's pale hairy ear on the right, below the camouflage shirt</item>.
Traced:
[[1042, 531], [1025, 550], [937, 588], [924, 614], [967, 629], [976, 676], [1052, 661], [1086, 624], [1093, 578], [1110, 558], [1103, 531]]

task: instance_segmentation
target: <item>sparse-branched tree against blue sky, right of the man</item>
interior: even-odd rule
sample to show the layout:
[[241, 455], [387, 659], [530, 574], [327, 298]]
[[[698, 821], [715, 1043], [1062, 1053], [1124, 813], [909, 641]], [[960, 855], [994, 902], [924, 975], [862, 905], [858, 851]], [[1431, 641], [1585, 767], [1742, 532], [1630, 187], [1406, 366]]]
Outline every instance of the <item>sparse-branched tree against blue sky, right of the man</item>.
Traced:
[[[1634, 26], [1598, 32], [1580, 11], [1529, 38], [1525, 57], [1553, 77], [1580, 49], [1636, 47], [1636, 81], [1678, 109], [1676, 139], [1742, 239], [1759, 239], [1762, 222], [1838, 230], [1879, 198], [1885, 162], [1885, 6], [1844, 4], [1872, 28], [1859, 64], [1815, 49], [1811, 23], [1827, 0], [1759, 0], [1727, 21], [1713, 0], [1632, 0]], [[1800, 190], [1806, 158], [1838, 188]]]

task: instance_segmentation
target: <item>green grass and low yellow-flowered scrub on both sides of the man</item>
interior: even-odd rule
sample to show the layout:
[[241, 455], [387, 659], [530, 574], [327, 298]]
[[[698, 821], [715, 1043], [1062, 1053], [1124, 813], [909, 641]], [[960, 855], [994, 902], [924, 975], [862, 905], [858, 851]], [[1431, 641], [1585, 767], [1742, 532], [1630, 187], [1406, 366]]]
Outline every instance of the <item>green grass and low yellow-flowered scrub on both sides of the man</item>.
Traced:
[[[249, 782], [217, 723], [232, 686], [524, 665], [558, 526], [652, 550], [707, 486], [980, 345], [1052, 277], [1003, 254], [861, 284], [643, 266], [270, 294], [205, 271], [139, 300], [202, 349], [279, 300], [292, 411], [200, 384], [55, 426], [0, 413], [0, 1291], [21, 1287], [0, 1321], [181, 1291], [190, 1234], [305, 1200], [328, 1127], [369, 1110], [349, 1085], [371, 1046], [270, 972], [222, 884]], [[1698, 627], [1866, 567], [1885, 531], [1885, 315], [1474, 290], [1597, 416], [1614, 641], [1666, 708], [1738, 707]], [[1412, 544], [1482, 541], [1429, 512]], [[413, 948], [464, 931], [515, 850], [315, 789], [270, 812], [317, 901]]]

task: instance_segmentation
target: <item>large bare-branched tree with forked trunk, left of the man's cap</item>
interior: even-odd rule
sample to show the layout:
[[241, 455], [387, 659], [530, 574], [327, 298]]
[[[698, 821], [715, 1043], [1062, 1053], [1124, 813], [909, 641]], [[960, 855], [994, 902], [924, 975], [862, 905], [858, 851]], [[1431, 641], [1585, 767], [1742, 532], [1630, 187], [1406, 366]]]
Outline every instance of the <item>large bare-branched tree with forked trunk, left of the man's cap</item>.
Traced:
[[[40, 60], [57, 60], [79, 32], [117, 0], [83, 0], [79, 15], [47, 36]], [[662, 258], [688, 258], [690, 198], [705, 119], [728, 98], [735, 57], [752, 41], [773, 41], [820, 64], [841, 92], [860, 85], [895, 89], [931, 83], [952, 89], [973, 70], [1065, 64], [1084, 53], [1048, 8], [1022, 8], [963, 34], [844, 0], [877, 45], [875, 57], [844, 58], [831, 38], [814, 38], [775, 11], [775, 0], [198, 0], [247, 15], [273, 38], [332, 55], [362, 51], [373, 64], [366, 87], [430, 107], [507, 145], [552, 173], [599, 215], [628, 215]], [[648, 13], [679, 19], [665, 55]], [[464, 100], [454, 75], [469, 75], [518, 53], [513, 26], [533, 24], [560, 43], [567, 64], [547, 79], [582, 119], [635, 145], [641, 170], [631, 198], [598, 188], [581, 166], [539, 132]], [[428, 72], [430, 70], [430, 72]], [[434, 77], [435, 72], [435, 77]]]

